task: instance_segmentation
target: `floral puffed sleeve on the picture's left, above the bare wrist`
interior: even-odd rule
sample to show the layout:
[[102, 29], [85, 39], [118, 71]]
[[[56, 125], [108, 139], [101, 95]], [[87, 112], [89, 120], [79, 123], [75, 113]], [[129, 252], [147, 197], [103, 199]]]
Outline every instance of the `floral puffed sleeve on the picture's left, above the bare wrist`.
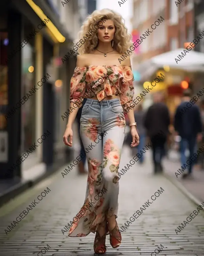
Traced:
[[82, 106], [86, 91], [86, 67], [76, 67], [70, 81], [70, 102]]

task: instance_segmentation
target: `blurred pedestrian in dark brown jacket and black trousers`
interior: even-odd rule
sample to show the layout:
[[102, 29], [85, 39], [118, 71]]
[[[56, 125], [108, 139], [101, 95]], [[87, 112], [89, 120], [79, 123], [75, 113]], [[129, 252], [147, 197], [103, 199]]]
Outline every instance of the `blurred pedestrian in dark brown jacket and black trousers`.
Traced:
[[165, 155], [169, 125], [170, 114], [166, 104], [163, 103], [163, 94], [155, 93], [153, 104], [147, 110], [145, 117], [145, 128], [152, 143], [154, 173], [163, 172], [162, 159]]

